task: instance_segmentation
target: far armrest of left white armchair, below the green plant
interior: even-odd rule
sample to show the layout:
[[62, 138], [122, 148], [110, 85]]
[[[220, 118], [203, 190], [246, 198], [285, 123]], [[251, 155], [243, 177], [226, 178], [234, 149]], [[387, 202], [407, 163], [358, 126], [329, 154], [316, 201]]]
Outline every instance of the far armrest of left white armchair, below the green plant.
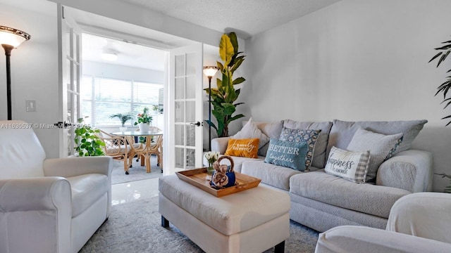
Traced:
[[111, 179], [113, 162], [111, 157], [70, 157], [44, 160], [45, 176], [80, 176], [84, 174], [104, 174]]

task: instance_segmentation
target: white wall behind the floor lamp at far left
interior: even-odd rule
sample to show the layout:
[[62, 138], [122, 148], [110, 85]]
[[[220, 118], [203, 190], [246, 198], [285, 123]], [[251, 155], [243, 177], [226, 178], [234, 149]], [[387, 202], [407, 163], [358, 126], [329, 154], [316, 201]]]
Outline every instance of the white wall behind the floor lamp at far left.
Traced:
[[[56, 4], [42, 3], [42, 10], [54, 10]], [[13, 119], [32, 124], [58, 122], [58, 45], [56, 16], [0, 3], [0, 24], [31, 35], [11, 53], [11, 96]], [[6, 66], [0, 49], [0, 119], [6, 113]], [[36, 100], [36, 112], [25, 111], [25, 100]], [[58, 157], [58, 130], [35, 128], [47, 157]]]

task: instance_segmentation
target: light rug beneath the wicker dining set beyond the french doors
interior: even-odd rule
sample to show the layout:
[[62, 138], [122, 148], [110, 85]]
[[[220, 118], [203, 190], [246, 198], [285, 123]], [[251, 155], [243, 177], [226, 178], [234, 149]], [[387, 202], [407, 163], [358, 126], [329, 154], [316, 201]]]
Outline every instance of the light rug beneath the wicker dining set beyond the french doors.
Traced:
[[161, 173], [161, 167], [156, 166], [156, 155], [150, 157], [151, 172], [146, 172], [146, 167], [141, 166], [141, 160], [136, 161], [133, 159], [132, 167], [128, 169], [128, 175], [124, 171], [124, 162], [122, 160], [113, 160], [113, 172], [111, 173], [111, 184], [126, 183], [131, 181], [153, 179], [163, 176]]

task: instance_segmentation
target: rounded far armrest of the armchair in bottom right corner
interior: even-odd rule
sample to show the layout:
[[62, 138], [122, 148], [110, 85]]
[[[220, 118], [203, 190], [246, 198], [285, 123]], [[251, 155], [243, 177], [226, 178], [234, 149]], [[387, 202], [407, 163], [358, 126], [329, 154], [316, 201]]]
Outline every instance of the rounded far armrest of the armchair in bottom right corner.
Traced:
[[393, 205], [386, 230], [451, 244], [450, 210], [449, 193], [405, 195]]

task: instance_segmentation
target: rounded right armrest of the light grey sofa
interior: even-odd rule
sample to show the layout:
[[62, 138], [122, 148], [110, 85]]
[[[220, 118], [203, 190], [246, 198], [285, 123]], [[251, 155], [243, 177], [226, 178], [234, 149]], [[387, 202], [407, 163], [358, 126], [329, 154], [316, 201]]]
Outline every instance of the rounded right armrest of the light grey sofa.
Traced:
[[390, 186], [418, 193], [432, 190], [432, 153], [406, 150], [381, 164], [376, 176], [378, 186]]

